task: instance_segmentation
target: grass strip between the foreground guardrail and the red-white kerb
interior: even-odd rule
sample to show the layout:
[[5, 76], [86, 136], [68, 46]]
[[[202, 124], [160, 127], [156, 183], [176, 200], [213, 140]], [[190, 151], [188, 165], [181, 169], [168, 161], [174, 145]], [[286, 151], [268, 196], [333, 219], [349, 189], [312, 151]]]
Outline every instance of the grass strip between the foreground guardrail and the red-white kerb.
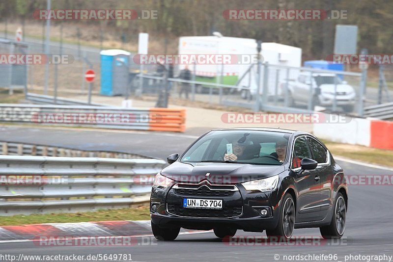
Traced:
[[0, 226], [149, 219], [149, 206], [143, 205], [140, 207], [132, 207], [127, 209], [98, 210], [95, 212], [0, 216]]

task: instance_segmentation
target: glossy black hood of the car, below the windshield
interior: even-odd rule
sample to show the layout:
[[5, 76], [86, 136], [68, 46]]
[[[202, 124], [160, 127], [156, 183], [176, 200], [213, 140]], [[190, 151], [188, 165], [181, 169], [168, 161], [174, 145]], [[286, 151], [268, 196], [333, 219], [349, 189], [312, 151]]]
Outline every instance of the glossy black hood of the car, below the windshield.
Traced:
[[[208, 180], [212, 184], [236, 184], [278, 175], [283, 165], [252, 165], [235, 163], [182, 163], [174, 162], [161, 171], [174, 181], [199, 183]], [[206, 174], [209, 174], [206, 176]]]

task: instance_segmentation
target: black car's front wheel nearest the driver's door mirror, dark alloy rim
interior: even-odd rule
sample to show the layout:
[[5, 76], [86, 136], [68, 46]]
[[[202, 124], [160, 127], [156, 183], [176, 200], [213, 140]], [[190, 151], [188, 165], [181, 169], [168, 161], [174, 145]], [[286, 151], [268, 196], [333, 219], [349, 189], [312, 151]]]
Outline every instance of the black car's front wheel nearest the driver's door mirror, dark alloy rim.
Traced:
[[281, 239], [289, 239], [295, 228], [295, 204], [291, 194], [287, 193], [282, 199], [280, 207], [279, 224], [274, 230], [266, 230], [266, 235], [270, 237], [278, 237]]

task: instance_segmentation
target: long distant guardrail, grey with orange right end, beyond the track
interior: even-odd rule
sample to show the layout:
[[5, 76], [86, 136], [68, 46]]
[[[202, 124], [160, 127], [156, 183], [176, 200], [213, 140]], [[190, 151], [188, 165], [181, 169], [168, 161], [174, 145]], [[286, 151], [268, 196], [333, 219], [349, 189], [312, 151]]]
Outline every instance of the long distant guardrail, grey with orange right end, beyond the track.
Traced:
[[185, 131], [185, 109], [0, 104], [0, 122], [128, 130]]

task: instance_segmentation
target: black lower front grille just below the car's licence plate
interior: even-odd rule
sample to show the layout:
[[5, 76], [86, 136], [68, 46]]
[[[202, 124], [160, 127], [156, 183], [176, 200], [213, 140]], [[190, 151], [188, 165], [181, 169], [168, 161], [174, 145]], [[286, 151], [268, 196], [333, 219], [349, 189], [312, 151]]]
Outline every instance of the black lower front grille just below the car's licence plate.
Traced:
[[231, 218], [240, 216], [243, 213], [243, 207], [225, 207], [224, 209], [186, 209], [174, 204], [167, 205], [168, 213], [184, 217], [200, 218]]

